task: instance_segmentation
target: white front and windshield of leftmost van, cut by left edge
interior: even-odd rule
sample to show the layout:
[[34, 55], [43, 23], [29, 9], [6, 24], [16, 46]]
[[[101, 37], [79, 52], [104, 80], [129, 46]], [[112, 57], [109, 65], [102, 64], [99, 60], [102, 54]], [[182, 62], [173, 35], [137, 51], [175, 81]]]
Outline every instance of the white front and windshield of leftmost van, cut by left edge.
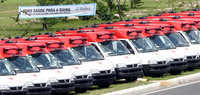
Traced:
[[26, 95], [29, 84], [27, 77], [17, 75], [6, 59], [1, 59], [0, 61], [0, 93], [20, 93], [21, 95]]

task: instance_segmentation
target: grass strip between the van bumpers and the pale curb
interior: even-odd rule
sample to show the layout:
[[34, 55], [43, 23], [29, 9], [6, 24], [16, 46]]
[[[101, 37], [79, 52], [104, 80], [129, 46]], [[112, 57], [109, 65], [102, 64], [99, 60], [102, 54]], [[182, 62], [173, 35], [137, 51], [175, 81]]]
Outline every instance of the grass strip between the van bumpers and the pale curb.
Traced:
[[183, 71], [180, 75], [165, 74], [163, 77], [158, 77], [158, 78], [145, 76], [143, 78], [147, 79], [146, 82], [143, 82], [143, 81], [125, 82], [125, 81], [117, 80], [109, 88], [98, 89], [97, 86], [93, 86], [92, 88], [90, 88], [87, 91], [87, 93], [76, 94], [75, 92], [72, 92], [69, 95], [100, 95], [100, 94], [109, 93], [109, 92], [113, 92], [113, 91], [147, 85], [147, 84], [152, 83], [152, 81], [168, 80], [168, 79], [186, 76], [186, 75], [190, 75], [190, 74], [195, 74], [195, 73], [199, 73], [199, 72], [200, 72], [200, 69], [198, 68], [198, 69], [194, 69], [194, 71]]

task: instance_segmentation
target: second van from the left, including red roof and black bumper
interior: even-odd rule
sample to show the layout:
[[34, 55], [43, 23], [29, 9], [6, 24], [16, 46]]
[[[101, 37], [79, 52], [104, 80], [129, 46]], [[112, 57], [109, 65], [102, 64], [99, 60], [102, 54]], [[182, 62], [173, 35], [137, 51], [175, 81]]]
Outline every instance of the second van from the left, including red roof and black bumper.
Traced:
[[[17, 72], [18, 77], [23, 78], [27, 82], [23, 87], [27, 88], [28, 95], [51, 95], [51, 85], [47, 84], [47, 81], [54, 82], [54, 80], [45, 78], [45, 75], [40, 77], [40, 69], [31, 58], [22, 52], [22, 48], [10, 45], [0, 45], [0, 48], [3, 50], [3, 57], [7, 59], [10, 66]], [[13, 89], [18, 90], [21, 88]]]

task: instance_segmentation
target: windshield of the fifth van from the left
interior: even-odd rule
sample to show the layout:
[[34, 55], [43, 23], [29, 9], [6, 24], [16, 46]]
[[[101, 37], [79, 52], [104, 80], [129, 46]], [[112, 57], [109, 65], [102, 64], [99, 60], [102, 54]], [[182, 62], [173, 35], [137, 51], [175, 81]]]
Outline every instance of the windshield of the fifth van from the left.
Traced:
[[103, 57], [92, 46], [74, 47], [72, 51], [82, 61], [103, 60]]

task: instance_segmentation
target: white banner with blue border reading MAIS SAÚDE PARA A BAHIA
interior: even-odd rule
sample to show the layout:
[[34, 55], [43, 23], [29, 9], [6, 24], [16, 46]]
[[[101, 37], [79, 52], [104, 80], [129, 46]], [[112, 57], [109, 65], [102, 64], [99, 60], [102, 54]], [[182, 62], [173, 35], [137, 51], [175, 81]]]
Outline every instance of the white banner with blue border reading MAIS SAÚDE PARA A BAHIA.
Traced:
[[90, 16], [95, 14], [96, 3], [54, 6], [19, 6], [19, 19]]

